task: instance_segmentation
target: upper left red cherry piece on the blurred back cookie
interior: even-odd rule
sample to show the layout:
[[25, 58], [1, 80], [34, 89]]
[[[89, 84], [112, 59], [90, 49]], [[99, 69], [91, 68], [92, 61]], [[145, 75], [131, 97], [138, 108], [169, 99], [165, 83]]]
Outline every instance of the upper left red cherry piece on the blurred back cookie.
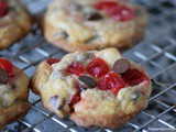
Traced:
[[109, 12], [110, 10], [113, 10], [114, 8], [117, 8], [117, 6], [118, 3], [113, 1], [102, 1], [102, 2], [96, 3], [94, 7], [97, 10], [106, 10]]

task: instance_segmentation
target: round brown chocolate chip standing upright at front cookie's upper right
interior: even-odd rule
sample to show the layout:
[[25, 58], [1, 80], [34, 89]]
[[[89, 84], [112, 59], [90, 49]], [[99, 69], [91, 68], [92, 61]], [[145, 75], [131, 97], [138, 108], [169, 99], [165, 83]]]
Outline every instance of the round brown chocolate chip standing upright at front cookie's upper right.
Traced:
[[120, 58], [113, 64], [113, 72], [117, 74], [124, 74], [130, 67], [130, 63], [125, 58]]

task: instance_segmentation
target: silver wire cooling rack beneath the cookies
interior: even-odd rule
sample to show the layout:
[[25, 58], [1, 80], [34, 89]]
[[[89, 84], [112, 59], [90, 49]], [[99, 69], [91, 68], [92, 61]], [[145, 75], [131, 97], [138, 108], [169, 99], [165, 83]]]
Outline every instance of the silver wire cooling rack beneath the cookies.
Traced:
[[[176, 0], [132, 0], [145, 7], [151, 15], [145, 38], [123, 55], [146, 68], [153, 81], [148, 107], [119, 130], [77, 127], [68, 117], [59, 119], [44, 109], [38, 96], [30, 92], [31, 110], [25, 118], [8, 125], [4, 132], [147, 132], [176, 131]], [[40, 16], [50, 0], [23, 0]], [[66, 53], [50, 45], [37, 24], [26, 37], [0, 51], [31, 77], [37, 64]]]

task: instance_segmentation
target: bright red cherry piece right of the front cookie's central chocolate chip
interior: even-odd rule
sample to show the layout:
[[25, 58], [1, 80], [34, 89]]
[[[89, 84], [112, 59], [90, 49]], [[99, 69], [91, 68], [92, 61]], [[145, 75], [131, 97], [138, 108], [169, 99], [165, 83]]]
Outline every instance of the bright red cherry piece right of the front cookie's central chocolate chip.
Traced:
[[107, 74], [98, 86], [101, 90], [112, 90], [117, 94], [121, 88], [125, 87], [125, 82], [116, 73]]

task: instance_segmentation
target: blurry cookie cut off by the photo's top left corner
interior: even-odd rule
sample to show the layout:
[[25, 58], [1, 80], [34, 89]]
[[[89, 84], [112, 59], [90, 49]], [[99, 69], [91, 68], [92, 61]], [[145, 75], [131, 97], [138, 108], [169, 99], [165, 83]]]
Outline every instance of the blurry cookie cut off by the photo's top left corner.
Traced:
[[0, 50], [20, 40], [31, 26], [31, 16], [19, 0], [0, 0]]

